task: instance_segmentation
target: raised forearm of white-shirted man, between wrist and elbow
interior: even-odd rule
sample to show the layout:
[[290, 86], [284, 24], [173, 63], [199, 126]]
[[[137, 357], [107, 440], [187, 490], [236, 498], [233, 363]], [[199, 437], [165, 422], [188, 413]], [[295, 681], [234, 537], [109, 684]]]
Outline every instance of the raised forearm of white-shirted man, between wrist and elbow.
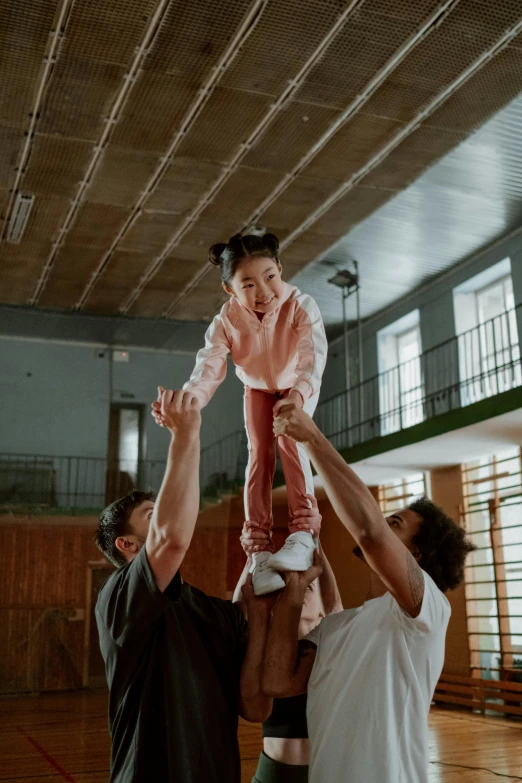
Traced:
[[378, 535], [384, 519], [377, 501], [315, 425], [304, 445], [334, 511], [355, 540]]

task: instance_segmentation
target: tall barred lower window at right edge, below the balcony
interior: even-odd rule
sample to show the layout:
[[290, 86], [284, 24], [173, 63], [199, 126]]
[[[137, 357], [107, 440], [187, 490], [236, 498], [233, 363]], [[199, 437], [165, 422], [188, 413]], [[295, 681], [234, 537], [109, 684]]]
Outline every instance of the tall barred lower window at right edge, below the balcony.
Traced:
[[477, 546], [466, 562], [472, 674], [522, 682], [521, 450], [463, 467], [464, 516]]

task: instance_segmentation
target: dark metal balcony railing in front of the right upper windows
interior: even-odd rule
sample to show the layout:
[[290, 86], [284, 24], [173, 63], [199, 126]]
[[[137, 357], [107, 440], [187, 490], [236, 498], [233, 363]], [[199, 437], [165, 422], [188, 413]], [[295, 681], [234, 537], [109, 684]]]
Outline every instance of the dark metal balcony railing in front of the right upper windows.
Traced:
[[325, 400], [317, 425], [347, 449], [522, 386], [517, 316], [521, 305]]

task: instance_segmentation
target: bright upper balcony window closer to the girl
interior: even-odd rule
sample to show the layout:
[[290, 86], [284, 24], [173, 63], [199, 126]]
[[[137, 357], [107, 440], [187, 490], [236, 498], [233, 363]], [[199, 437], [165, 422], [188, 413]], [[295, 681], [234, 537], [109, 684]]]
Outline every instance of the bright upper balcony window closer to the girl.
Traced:
[[423, 420], [419, 311], [378, 333], [381, 435]]

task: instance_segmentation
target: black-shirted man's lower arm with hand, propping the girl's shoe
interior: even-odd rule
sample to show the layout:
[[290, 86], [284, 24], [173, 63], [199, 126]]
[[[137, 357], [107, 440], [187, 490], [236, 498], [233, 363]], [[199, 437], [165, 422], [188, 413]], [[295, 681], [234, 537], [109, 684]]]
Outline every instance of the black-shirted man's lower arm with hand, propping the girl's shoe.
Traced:
[[256, 596], [252, 576], [247, 574], [243, 585], [243, 602], [248, 612], [248, 644], [241, 668], [240, 715], [252, 722], [261, 722], [272, 712], [272, 699], [261, 688], [261, 668], [265, 651], [270, 614], [277, 594]]

